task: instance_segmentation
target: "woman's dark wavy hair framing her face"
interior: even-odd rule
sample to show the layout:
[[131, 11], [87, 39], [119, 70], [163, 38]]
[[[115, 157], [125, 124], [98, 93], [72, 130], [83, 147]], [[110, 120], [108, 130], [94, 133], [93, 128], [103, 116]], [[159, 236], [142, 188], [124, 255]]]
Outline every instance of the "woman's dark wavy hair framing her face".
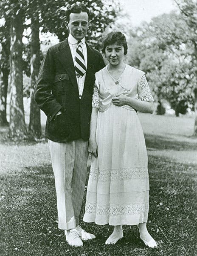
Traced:
[[105, 48], [111, 44], [118, 44], [124, 47], [124, 55], [127, 54], [127, 40], [123, 33], [120, 31], [110, 32], [106, 35], [103, 41], [103, 49], [102, 52], [105, 53]]

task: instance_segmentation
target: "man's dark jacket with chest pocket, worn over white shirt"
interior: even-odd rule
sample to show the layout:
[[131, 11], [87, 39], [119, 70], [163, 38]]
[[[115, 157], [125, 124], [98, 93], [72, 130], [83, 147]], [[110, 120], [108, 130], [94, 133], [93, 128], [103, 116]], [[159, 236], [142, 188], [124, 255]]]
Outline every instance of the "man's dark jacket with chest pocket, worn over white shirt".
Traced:
[[[40, 66], [34, 99], [47, 116], [45, 137], [50, 140], [89, 139], [94, 74], [105, 64], [100, 52], [86, 46], [87, 71], [82, 97], [79, 97], [68, 39], [50, 47]], [[60, 110], [63, 113], [56, 116]]]

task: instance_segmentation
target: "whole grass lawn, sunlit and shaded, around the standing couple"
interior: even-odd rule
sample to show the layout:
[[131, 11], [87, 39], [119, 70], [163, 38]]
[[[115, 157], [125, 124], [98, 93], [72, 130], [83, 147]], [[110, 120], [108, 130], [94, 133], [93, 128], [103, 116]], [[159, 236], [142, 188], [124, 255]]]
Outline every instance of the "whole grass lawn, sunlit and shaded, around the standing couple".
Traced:
[[[83, 222], [82, 227], [95, 233], [96, 239], [84, 242], [82, 248], [70, 247], [57, 228], [47, 144], [14, 144], [5, 139], [4, 128], [0, 129], [0, 256], [197, 255], [197, 140], [190, 137], [189, 126], [193, 120], [143, 114], [140, 119], [149, 154], [148, 227], [157, 249], [144, 246], [135, 226], [124, 226], [124, 238], [106, 246], [113, 227]], [[81, 218], [83, 212], [84, 202]]]

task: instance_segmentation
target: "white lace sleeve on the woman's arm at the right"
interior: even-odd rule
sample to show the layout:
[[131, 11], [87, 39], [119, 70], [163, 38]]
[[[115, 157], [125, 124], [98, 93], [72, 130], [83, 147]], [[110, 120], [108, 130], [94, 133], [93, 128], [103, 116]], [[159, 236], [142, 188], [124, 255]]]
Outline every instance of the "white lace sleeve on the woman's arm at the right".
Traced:
[[152, 97], [152, 93], [149, 88], [149, 84], [146, 80], [146, 76], [142, 76], [139, 82], [139, 87], [138, 87], [138, 94], [139, 98], [142, 101], [154, 101]]

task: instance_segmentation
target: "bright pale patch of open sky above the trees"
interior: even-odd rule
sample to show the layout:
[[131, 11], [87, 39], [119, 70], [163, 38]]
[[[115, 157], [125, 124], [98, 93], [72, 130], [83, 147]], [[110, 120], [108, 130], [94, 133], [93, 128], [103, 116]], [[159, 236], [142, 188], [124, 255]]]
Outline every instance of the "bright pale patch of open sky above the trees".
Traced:
[[174, 0], [120, 0], [120, 3], [133, 26], [138, 26], [142, 21], [149, 22], [152, 17], [177, 10]]

